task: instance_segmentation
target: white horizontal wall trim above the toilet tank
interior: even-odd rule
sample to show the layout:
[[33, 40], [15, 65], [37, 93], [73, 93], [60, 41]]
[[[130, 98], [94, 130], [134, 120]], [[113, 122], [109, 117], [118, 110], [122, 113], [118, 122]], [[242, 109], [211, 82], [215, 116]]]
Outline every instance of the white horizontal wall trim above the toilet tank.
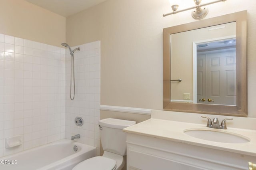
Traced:
[[141, 108], [134, 108], [134, 107], [100, 105], [100, 110], [151, 115], [151, 109], [141, 109]]

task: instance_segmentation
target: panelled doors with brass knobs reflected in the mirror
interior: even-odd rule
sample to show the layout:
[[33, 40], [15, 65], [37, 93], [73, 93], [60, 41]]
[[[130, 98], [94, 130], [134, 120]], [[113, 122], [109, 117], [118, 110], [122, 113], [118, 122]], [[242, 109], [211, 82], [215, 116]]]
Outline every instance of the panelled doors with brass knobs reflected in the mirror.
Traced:
[[202, 93], [198, 93], [198, 103], [236, 105], [236, 51], [199, 55], [199, 60], [203, 67], [197, 73], [197, 90]]

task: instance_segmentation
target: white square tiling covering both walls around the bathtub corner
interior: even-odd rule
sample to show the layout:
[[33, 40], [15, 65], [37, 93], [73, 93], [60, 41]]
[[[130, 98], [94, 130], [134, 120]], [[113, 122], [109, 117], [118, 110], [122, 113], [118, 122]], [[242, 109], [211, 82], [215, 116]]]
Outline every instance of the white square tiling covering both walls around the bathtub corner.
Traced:
[[[0, 140], [14, 134], [24, 138], [22, 146], [11, 150], [0, 142], [0, 156], [76, 133], [82, 136], [79, 142], [99, 150], [100, 42], [80, 48], [71, 101], [68, 49], [0, 34]], [[76, 116], [84, 119], [83, 127], [74, 125]]]

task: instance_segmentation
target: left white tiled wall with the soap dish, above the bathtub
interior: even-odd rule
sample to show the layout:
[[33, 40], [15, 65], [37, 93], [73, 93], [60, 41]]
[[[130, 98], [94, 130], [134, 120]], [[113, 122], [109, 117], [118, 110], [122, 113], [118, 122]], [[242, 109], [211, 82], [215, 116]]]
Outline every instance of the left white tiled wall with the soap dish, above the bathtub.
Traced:
[[[23, 144], [6, 149], [5, 138], [20, 134]], [[0, 157], [61, 138], [64, 48], [0, 34]]]

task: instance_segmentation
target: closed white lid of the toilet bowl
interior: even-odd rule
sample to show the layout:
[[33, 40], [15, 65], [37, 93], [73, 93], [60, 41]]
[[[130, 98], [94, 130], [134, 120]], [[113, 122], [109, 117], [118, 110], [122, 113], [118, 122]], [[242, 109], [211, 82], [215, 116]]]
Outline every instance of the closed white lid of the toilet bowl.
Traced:
[[72, 170], [114, 170], [115, 167], [116, 160], [96, 156], [80, 162]]

